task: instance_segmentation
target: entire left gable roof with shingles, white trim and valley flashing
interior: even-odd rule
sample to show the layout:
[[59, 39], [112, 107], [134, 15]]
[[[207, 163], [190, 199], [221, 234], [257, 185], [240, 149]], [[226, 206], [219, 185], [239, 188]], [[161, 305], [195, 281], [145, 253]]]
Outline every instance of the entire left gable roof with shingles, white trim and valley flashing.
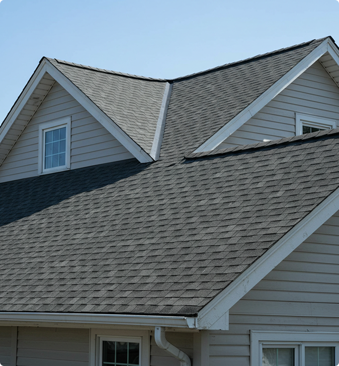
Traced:
[[55, 81], [139, 161], [158, 158], [168, 82], [43, 57], [0, 126], [0, 165]]

